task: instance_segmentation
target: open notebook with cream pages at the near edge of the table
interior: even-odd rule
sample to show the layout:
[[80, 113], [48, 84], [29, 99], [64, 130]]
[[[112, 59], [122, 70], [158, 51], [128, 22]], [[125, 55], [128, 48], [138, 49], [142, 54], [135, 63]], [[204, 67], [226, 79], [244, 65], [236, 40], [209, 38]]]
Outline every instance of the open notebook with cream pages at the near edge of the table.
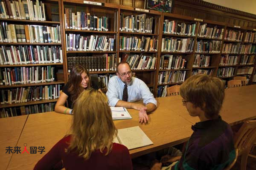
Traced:
[[129, 150], [153, 144], [139, 126], [118, 129], [117, 136], [113, 142], [123, 144]]

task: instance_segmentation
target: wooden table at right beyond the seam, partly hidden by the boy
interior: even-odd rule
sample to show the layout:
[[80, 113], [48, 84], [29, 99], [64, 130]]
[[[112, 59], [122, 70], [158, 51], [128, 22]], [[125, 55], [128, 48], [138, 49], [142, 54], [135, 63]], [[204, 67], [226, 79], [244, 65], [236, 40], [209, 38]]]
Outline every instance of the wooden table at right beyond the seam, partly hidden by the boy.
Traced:
[[[181, 96], [169, 96], [165, 98], [169, 105], [166, 107], [192, 124], [199, 122], [198, 117], [189, 115], [183, 106]], [[225, 98], [220, 115], [228, 124], [236, 125], [250, 119], [256, 119], [256, 85], [242, 86], [239, 88], [225, 89]]]

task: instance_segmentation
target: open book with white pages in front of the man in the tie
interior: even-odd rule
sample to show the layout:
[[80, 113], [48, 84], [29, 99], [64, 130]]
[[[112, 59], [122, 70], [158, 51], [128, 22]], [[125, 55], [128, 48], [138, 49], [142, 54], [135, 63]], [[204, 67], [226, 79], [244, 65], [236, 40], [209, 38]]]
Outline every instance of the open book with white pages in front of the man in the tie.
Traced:
[[113, 120], [131, 119], [130, 113], [124, 107], [110, 107]]

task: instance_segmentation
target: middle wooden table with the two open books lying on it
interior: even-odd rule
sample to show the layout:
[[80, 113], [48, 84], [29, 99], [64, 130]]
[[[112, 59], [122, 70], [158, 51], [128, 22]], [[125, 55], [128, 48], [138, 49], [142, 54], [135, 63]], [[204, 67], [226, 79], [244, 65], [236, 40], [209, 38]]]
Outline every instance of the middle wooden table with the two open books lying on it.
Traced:
[[[164, 98], [157, 99], [159, 103]], [[192, 134], [192, 123], [186, 121], [181, 116], [172, 113], [162, 107], [149, 116], [147, 125], [140, 125], [138, 111], [129, 109], [133, 119], [115, 120], [117, 129], [125, 127], [140, 126], [141, 129], [154, 143], [153, 145], [130, 150], [132, 157], [141, 156], [168, 146], [183, 143]], [[64, 115], [55, 112], [31, 114], [26, 122], [23, 133], [20, 136], [18, 145], [27, 143], [28, 152], [30, 146], [44, 146], [47, 153], [65, 134], [68, 134], [71, 115]], [[22, 147], [24, 150], [24, 147]], [[16, 154], [10, 161], [8, 170], [31, 170], [43, 154]]]

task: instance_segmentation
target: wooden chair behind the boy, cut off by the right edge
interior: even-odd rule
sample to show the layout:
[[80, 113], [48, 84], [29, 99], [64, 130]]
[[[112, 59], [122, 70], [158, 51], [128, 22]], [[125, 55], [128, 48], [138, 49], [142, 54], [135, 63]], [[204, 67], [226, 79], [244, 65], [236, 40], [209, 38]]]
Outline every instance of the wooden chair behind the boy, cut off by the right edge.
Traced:
[[235, 148], [241, 156], [240, 170], [246, 170], [247, 158], [253, 144], [256, 142], [256, 120], [246, 121], [234, 137]]

